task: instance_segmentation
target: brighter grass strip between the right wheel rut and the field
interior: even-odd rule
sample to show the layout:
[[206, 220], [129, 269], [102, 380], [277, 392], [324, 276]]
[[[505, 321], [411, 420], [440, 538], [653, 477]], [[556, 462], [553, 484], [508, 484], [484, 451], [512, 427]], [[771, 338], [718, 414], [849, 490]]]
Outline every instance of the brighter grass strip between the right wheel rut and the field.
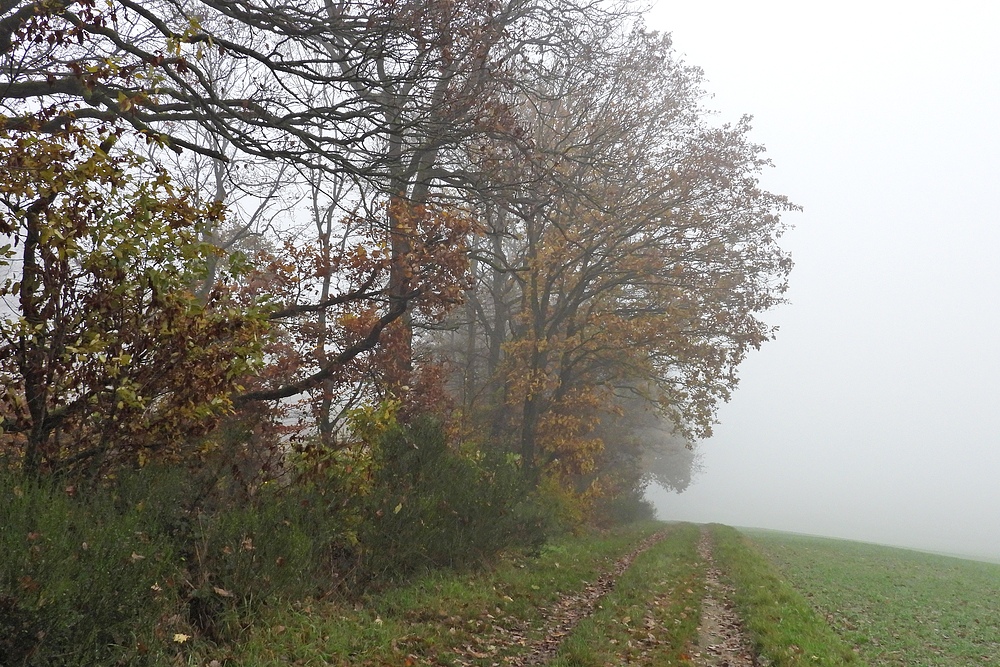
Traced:
[[776, 667], [861, 665], [850, 646], [736, 530], [712, 526], [715, 558], [758, 653]]

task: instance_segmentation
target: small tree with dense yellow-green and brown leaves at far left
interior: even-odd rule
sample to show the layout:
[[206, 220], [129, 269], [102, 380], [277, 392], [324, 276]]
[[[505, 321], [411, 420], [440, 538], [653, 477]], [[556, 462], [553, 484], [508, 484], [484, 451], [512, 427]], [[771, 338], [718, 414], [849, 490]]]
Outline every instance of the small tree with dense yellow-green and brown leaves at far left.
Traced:
[[[26, 472], [191, 455], [259, 362], [262, 320], [224, 288], [192, 292], [215, 249], [169, 175], [106, 152], [82, 132], [0, 137], [0, 296], [8, 450]], [[22, 458], [23, 457], [23, 458]]]

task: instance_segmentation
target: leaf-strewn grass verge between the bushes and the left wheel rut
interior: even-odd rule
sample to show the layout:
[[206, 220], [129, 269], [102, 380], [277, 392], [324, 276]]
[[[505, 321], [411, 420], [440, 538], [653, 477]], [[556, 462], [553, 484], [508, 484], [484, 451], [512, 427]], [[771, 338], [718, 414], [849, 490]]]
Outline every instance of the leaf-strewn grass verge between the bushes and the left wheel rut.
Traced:
[[527, 650], [542, 610], [581, 590], [663, 528], [645, 523], [555, 541], [490, 573], [438, 572], [357, 605], [313, 601], [266, 613], [231, 652], [192, 646], [189, 664], [490, 665]]

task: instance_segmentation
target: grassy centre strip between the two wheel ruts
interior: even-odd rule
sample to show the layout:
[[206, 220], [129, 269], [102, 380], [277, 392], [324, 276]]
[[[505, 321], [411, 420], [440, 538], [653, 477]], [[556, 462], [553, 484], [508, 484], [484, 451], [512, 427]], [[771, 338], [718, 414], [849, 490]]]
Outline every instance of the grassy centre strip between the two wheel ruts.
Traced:
[[554, 667], [685, 665], [698, 641], [704, 563], [697, 526], [682, 525], [638, 556], [563, 642]]

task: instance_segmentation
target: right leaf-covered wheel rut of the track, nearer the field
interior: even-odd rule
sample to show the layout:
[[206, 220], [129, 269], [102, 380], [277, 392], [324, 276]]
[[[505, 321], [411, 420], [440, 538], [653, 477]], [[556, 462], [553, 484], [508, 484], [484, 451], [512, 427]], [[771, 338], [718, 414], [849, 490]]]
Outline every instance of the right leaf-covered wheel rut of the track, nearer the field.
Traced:
[[743, 623], [733, 606], [733, 589], [721, 579], [712, 557], [712, 539], [701, 531], [698, 553], [708, 563], [705, 573], [705, 598], [701, 603], [698, 647], [692, 654], [696, 667], [763, 667], [754, 657]]

